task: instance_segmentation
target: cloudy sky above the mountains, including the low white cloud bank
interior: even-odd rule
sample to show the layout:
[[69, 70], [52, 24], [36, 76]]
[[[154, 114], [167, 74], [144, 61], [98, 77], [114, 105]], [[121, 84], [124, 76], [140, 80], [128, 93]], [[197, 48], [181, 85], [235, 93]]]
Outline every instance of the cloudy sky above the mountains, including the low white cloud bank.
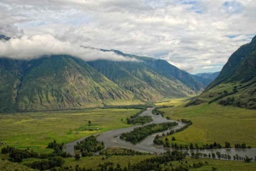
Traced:
[[255, 36], [255, 9], [255, 0], [1, 0], [0, 34], [16, 39], [0, 42], [0, 55], [132, 60], [94, 48], [117, 49], [216, 72]]

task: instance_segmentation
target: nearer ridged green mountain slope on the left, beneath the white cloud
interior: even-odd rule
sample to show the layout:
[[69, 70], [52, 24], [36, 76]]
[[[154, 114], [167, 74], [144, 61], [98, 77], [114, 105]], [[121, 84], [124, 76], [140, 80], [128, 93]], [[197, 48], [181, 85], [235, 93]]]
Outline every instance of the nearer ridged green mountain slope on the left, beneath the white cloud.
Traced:
[[[3, 64], [7, 59], [0, 60]], [[4, 79], [5, 75], [10, 77], [10, 80], [0, 83], [1, 94], [9, 90], [5, 92], [8, 101], [2, 105], [5, 108], [15, 106], [21, 111], [63, 110], [90, 107], [107, 100], [133, 99], [131, 92], [121, 89], [77, 58], [55, 55], [31, 61], [11, 61], [18, 63], [15, 70], [1, 67], [0, 78]]]

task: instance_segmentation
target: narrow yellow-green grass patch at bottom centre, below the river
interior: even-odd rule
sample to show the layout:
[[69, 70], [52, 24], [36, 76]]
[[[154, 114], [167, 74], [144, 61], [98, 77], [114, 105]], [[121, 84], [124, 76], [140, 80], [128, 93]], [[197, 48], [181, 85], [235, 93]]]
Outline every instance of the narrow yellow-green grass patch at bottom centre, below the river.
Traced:
[[[102, 160], [102, 157], [105, 159]], [[76, 161], [75, 158], [66, 158], [64, 166], [72, 166], [73, 168], [79, 164], [80, 167], [85, 167], [86, 169], [95, 169], [99, 164], [104, 164], [105, 162], [114, 163], [114, 167], [119, 163], [121, 167], [128, 166], [128, 163], [135, 164], [147, 158], [155, 157], [154, 155], [133, 155], [133, 156], [121, 156], [121, 155], [111, 155], [106, 159], [106, 156], [94, 156], [94, 157], [81, 157], [80, 160]]]

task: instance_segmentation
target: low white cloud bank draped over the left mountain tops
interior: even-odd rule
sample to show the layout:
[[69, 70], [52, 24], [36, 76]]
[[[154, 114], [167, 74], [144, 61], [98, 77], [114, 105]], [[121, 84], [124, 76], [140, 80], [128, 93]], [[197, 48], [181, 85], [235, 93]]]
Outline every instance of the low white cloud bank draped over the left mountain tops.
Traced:
[[112, 60], [136, 61], [133, 58], [123, 57], [114, 52], [103, 52], [98, 49], [84, 48], [80, 45], [60, 41], [50, 34], [37, 36], [23, 36], [21, 39], [0, 41], [0, 56], [20, 60], [31, 60], [43, 55], [72, 55], [85, 61]]

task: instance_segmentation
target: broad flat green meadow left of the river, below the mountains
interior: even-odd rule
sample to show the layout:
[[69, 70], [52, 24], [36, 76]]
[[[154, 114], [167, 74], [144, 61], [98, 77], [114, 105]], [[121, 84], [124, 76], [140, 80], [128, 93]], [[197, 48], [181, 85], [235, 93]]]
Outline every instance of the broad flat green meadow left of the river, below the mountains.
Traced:
[[[4, 145], [0, 145], [0, 148], [9, 145], [31, 148], [36, 152], [50, 152], [51, 149], [46, 149], [46, 146], [54, 139], [59, 143], [68, 143], [97, 132], [129, 127], [125, 122], [126, 117], [138, 111], [99, 109], [2, 114], [0, 141]], [[91, 126], [88, 125], [89, 120]], [[90, 127], [95, 130], [85, 130]]]

